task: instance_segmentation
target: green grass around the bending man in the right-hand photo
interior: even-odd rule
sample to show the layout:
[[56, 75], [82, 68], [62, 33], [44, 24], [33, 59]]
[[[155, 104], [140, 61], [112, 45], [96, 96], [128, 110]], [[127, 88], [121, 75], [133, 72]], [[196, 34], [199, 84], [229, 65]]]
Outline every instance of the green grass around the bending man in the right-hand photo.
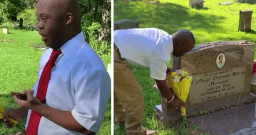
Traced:
[[[141, 28], [160, 28], [170, 34], [179, 29], [188, 29], [194, 34], [196, 45], [223, 40], [248, 40], [256, 43], [256, 14], [252, 14], [252, 31], [238, 32], [239, 10], [255, 11], [256, 6], [239, 4], [233, 0], [231, 0], [233, 4], [228, 6], [219, 5], [219, 2], [222, 0], [208, 0], [204, 4], [204, 9], [194, 9], [189, 7], [189, 0], [160, 0], [158, 5], [151, 4], [147, 0], [137, 2], [118, 0], [114, 1], [114, 21], [134, 19], [140, 22]], [[169, 66], [172, 67], [172, 60]], [[160, 92], [152, 87], [154, 79], [149, 76], [149, 69], [131, 67], [143, 91], [145, 101], [143, 126], [159, 131], [160, 135], [187, 135], [192, 130], [199, 130], [195, 125], [190, 125], [188, 128], [161, 126], [155, 118], [154, 110], [155, 105], [161, 104], [161, 96]], [[118, 126], [114, 122], [114, 135], [126, 135], [124, 126]]]

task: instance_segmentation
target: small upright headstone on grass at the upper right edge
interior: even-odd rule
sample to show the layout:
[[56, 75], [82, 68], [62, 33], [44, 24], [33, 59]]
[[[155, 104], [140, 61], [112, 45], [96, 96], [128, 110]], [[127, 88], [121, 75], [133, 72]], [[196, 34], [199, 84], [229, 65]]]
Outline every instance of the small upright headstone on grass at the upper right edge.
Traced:
[[251, 17], [252, 17], [251, 9], [240, 10], [238, 31], [251, 30]]

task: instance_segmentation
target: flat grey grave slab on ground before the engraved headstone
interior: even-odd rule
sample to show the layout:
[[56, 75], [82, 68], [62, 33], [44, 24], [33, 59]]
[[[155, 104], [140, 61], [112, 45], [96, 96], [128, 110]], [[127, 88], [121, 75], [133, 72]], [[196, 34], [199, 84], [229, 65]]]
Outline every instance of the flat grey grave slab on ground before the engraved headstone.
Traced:
[[188, 121], [211, 135], [256, 135], [255, 103], [191, 117]]

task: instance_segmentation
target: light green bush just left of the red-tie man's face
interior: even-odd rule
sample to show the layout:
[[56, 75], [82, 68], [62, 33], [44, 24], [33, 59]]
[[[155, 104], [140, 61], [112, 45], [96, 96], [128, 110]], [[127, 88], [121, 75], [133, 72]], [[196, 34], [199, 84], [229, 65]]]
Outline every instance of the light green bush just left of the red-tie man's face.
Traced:
[[37, 21], [37, 16], [36, 16], [36, 10], [35, 9], [25, 9], [23, 12], [20, 12], [17, 15], [17, 18], [23, 19], [23, 24], [26, 25], [35, 25]]

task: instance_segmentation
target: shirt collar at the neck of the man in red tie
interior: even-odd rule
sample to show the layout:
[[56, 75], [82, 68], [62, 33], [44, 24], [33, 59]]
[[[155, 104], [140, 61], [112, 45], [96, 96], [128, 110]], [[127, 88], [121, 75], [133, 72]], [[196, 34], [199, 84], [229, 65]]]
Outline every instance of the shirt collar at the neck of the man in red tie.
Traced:
[[76, 51], [84, 43], [85, 39], [83, 32], [80, 32], [75, 37], [67, 41], [62, 47], [60, 47], [60, 50], [64, 55], [69, 54], [71, 51]]

